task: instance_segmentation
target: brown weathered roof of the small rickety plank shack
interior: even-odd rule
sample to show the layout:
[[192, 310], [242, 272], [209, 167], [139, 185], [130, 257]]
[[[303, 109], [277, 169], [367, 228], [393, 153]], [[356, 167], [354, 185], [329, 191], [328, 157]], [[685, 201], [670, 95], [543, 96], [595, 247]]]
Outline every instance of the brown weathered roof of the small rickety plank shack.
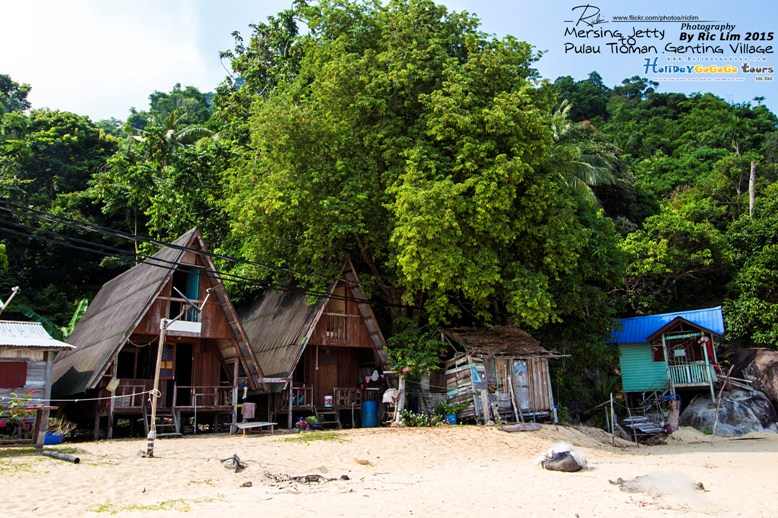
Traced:
[[454, 328], [445, 329], [443, 333], [459, 342], [469, 354], [512, 358], [558, 356], [541, 347], [540, 342], [528, 333], [512, 326], [495, 326], [491, 329]]

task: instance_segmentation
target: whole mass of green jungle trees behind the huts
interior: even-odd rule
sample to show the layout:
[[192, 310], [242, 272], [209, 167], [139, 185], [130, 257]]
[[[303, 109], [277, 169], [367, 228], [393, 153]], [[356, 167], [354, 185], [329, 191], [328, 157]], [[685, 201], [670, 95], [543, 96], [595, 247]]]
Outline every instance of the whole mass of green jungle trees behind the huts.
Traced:
[[722, 304], [731, 343], [778, 343], [763, 99], [551, 81], [521, 35], [427, 0], [297, 2], [252, 27], [215, 94], [175, 85], [125, 121], [35, 109], [0, 75], [0, 294], [22, 288], [3, 318], [66, 324], [154, 250], [72, 219], [197, 226], [243, 260], [219, 261], [238, 302], [321, 289], [348, 255], [385, 334], [519, 326], [570, 355], [556, 383], [580, 408], [607, 393], [618, 316]]

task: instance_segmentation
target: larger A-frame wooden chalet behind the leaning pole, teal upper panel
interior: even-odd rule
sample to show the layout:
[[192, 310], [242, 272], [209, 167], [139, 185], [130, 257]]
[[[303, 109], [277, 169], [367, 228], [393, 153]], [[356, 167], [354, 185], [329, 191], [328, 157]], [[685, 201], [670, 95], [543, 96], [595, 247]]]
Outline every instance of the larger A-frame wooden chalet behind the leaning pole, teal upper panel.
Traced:
[[89, 305], [68, 338], [75, 349], [54, 362], [56, 397], [81, 400], [66, 409], [71, 420], [91, 420], [95, 437], [141, 417], [148, 431], [163, 320], [158, 436], [182, 433], [186, 418], [235, 420], [239, 383], [257, 388], [262, 375], [196, 229], [108, 281]]

